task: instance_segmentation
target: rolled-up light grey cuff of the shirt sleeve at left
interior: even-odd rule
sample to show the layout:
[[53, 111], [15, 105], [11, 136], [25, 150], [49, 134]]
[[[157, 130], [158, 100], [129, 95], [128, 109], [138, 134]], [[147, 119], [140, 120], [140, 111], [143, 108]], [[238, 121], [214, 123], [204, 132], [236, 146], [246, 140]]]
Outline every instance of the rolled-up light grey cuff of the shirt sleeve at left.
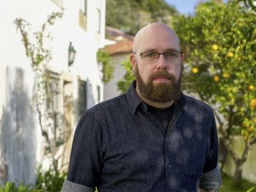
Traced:
[[69, 180], [65, 180], [60, 192], [94, 192], [95, 188], [89, 188]]

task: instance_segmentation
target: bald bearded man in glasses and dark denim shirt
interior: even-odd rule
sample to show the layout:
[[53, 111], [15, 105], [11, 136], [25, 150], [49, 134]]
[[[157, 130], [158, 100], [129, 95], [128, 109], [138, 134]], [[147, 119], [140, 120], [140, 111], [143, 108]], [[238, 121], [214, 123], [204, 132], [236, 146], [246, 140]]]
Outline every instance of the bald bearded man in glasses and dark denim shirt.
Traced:
[[178, 36], [152, 23], [137, 33], [133, 49], [136, 81], [124, 95], [84, 113], [62, 192], [217, 191], [214, 116], [180, 92]]

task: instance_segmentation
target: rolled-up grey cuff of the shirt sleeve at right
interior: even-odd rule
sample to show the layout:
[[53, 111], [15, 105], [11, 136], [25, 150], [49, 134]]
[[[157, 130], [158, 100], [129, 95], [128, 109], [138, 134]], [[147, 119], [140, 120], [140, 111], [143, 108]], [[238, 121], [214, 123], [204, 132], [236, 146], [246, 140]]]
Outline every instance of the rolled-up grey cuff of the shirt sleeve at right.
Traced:
[[202, 174], [199, 188], [204, 188], [205, 191], [211, 191], [215, 189], [217, 191], [221, 186], [221, 173], [217, 166], [210, 172], [204, 172]]

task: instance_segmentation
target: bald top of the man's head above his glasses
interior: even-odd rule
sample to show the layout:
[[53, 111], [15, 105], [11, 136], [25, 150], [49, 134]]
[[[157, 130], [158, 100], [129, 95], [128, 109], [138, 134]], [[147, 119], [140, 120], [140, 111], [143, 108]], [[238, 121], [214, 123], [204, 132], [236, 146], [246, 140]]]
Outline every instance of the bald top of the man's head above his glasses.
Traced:
[[133, 52], [146, 52], [148, 50], [161, 52], [161, 49], [180, 51], [179, 37], [172, 28], [163, 23], [155, 22], [141, 28], [136, 34]]

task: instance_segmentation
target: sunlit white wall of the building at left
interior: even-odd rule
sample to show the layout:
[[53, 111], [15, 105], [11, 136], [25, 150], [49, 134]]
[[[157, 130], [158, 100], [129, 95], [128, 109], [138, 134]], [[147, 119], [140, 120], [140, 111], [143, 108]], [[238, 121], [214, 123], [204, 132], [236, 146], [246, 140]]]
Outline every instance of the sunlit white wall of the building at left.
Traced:
[[[73, 108], [74, 108], [74, 116], [71, 119], [73, 129], [75, 130], [77, 124], [77, 85], [78, 79], [82, 79], [87, 81], [88, 87], [87, 89], [87, 107], [91, 108], [93, 105], [97, 104], [99, 101], [103, 100], [103, 84], [100, 79], [100, 70], [97, 64], [96, 53], [100, 47], [104, 44], [105, 38], [105, 6], [106, 0], [87, 0], [87, 30], [84, 30], [79, 26], [79, 4], [80, 0], [63, 0], [63, 10], [60, 9], [59, 6], [54, 4], [51, 0], [8, 0], [0, 2], [0, 183], [3, 181], [3, 172], [4, 172], [4, 164], [7, 164], [9, 168], [12, 169], [13, 177], [10, 176], [7, 180], [18, 181], [27, 178], [25, 180], [25, 184], [29, 182], [35, 181], [35, 172], [25, 172], [28, 166], [35, 166], [33, 162], [30, 164], [20, 164], [19, 167], [14, 167], [13, 164], [17, 164], [17, 162], [23, 161], [23, 157], [36, 158], [36, 163], [41, 164], [44, 156], [42, 156], [42, 136], [41, 131], [38, 126], [38, 120], [36, 119], [36, 109], [35, 102], [33, 102], [33, 92], [34, 90], [34, 77], [32, 70], [30, 68], [30, 60], [26, 57], [24, 45], [21, 42], [20, 31], [16, 30], [16, 26], [14, 24], [14, 20], [16, 18], [22, 18], [27, 20], [28, 23], [31, 24], [31, 32], [40, 31], [42, 24], [46, 21], [47, 16], [52, 12], [62, 12], [63, 16], [60, 19], [55, 21], [53, 26], [50, 26], [48, 29], [50, 31], [52, 41], [44, 42], [47, 44], [46, 48], [51, 49], [52, 51], [52, 60], [48, 63], [48, 67], [53, 72], [56, 72], [60, 75], [60, 84], [64, 81], [70, 81], [72, 83], [72, 97], [73, 97]], [[97, 9], [100, 10], [100, 34], [97, 32], [97, 23], [99, 23], [97, 19]], [[76, 49], [76, 59], [74, 64], [71, 67], [68, 67], [68, 45], [69, 42], [72, 42], [73, 46]], [[31, 132], [25, 132], [25, 125], [22, 124], [17, 125], [17, 120], [15, 120], [15, 116], [13, 115], [12, 102], [10, 99], [10, 92], [15, 90], [15, 81], [17, 82], [18, 76], [16, 74], [16, 70], [21, 68], [24, 71], [23, 79], [20, 79], [20, 82], [24, 84], [23, 91], [26, 92], [26, 97], [29, 100], [29, 106], [27, 112], [31, 112], [31, 119], [34, 119], [35, 122], [27, 122], [29, 124], [34, 124], [33, 128], [36, 130], [35, 137], [36, 140], [36, 151], [31, 151], [31, 154], [36, 154], [36, 156], [25, 156], [24, 151], [28, 151], [26, 142], [28, 140], [20, 140], [26, 139]], [[10, 70], [12, 72], [10, 72]], [[9, 73], [8, 73], [9, 71]], [[10, 75], [12, 74], [12, 76]], [[65, 76], [64, 76], [65, 74]], [[68, 74], [68, 75], [67, 75]], [[69, 76], [69, 77], [67, 77]], [[100, 87], [100, 100], [98, 99], [98, 89]], [[12, 88], [12, 90], [10, 90]], [[31, 101], [31, 102], [30, 102]], [[35, 100], [34, 100], [35, 101]], [[61, 100], [60, 103], [63, 105], [64, 101]], [[26, 105], [26, 103], [21, 103], [22, 105]], [[18, 104], [17, 104], [18, 105]], [[24, 107], [24, 106], [23, 106]], [[22, 107], [22, 108], [23, 108]], [[28, 107], [28, 106], [27, 106]], [[21, 114], [22, 108], [19, 108], [18, 116]], [[7, 121], [4, 115], [11, 116], [12, 120]], [[17, 116], [16, 116], [17, 117]], [[30, 119], [30, 121], [32, 121]], [[14, 121], [14, 122], [13, 122]], [[24, 121], [20, 120], [22, 123]], [[14, 125], [13, 125], [13, 124]], [[15, 156], [16, 162], [10, 162], [8, 158], [13, 158], [11, 151], [8, 151], [6, 148], [6, 144], [11, 145], [12, 140], [17, 140], [13, 136], [13, 132], [7, 132], [6, 130], [10, 127], [13, 127], [13, 131], [15, 131], [15, 127], [19, 127], [19, 129], [23, 129], [22, 137], [19, 136], [18, 139], [20, 142], [17, 145], [23, 143], [22, 150], [19, 148], [14, 148], [15, 153], [18, 153]], [[27, 126], [28, 127], [28, 126]], [[12, 130], [10, 128], [10, 130]], [[9, 134], [6, 138], [6, 133]], [[25, 134], [25, 135], [24, 135]], [[28, 138], [27, 138], [28, 139]], [[8, 140], [8, 142], [7, 142]], [[31, 140], [30, 140], [31, 142]], [[7, 147], [7, 148], [8, 148]], [[10, 148], [9, 148], [10, 149]], [[30, 148], [31, 150], [31, 148]], [[33, 149], [32, 149], [33, 150]], [[8, 157], [9, 156], [9, 157]], [[22, 160], [23, 158], [23, 160]], [[28, 158], [28, 159], [29, 159]], [[8, 162], [9, 161], [9, 162]], [[21, 162], [22, 163], [22, 162]], [[26, 165], [26, 166], [25, 166]], [[23, 166], [23, 167], [22, 167]], [[22, 170], [23, 169], [23, 170]], [[20, 171], [19, 171], [20, 170]], [[3, 172], [2, 172], [3, 171]], [[1, 173], [2, 172], [2, 173]], [[16, 172], [16, 173], [15, 173]], [[17, 172], [21, 172], [20, 175]], [[34, 174], [34, 175], [33, 175]], [[3, 177], [2, 177], [3, 176]], [[2, 177], [2, 178], [1, 178]]]

